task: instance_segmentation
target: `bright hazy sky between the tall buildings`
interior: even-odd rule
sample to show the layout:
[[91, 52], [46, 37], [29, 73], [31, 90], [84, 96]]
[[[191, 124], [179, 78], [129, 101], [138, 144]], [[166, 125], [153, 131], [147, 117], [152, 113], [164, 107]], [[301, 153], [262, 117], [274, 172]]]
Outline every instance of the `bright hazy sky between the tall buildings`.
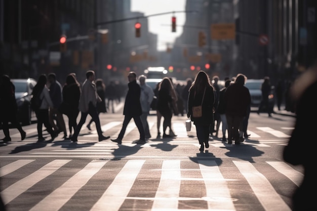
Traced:
[[[186, 0], [131, 0], [131, 11], [144, 13], [144, 16], [185, 11]], [[149, 31], [157, 34], [157, 48], [165, 51], [167, 43], [174, 43], [174, 39], [182, 32], [185, 22], [185, 13], [175, 13], [176, 32], [172, 32], [172, 16], [173, 14], [159, 15], [148, 18]]]

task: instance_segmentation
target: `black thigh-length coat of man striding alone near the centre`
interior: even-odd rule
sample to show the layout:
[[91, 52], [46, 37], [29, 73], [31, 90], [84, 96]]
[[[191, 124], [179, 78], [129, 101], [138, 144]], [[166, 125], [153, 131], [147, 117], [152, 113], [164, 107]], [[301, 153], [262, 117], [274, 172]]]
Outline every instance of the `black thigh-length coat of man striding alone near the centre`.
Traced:
[[141, 116], [142, 107], [140, 102], [141, 88], [136, 80], [128, 83], [128, 93], [126, 96], [125, 107], [123, 110], [124, 115]]

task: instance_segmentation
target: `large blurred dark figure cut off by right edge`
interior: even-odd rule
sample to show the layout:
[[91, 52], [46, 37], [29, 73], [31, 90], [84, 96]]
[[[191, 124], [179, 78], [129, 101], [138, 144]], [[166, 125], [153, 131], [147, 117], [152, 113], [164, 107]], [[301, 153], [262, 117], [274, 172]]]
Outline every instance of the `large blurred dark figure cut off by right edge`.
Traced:
[[293, 165], [304, 167], [304, 178], [293, 195], [294, 211], [317, 210], [315, 191], [316, 171], [316, 118], [317, 118], [317, 66], [299, 77], [292, 89], [292, 96], [298, 96], [296, 121], [283, 158]]

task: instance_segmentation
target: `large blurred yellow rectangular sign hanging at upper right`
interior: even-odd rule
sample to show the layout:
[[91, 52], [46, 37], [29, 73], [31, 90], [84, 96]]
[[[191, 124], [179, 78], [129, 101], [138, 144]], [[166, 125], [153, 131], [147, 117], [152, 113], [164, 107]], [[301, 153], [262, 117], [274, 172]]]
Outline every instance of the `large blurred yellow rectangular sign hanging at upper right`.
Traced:
[[217, 23], [211, 24], [211, 39], [235, 39], [235, 24], [234, 23]]

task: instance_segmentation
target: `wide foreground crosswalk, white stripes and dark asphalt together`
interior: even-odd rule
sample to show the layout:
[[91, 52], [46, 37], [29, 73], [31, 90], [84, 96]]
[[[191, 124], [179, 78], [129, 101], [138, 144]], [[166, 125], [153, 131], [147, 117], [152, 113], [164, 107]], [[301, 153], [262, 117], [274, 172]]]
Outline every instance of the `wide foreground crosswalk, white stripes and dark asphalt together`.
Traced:
[[291, 189], [303, 178], [283, 161], [188, 158], [2, 160], [0, 176], [11, 211], [22, 204], [32, 211], [69, 210], [69, 204], [71, 210], [287, 211]]

